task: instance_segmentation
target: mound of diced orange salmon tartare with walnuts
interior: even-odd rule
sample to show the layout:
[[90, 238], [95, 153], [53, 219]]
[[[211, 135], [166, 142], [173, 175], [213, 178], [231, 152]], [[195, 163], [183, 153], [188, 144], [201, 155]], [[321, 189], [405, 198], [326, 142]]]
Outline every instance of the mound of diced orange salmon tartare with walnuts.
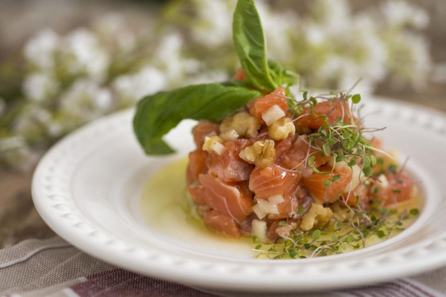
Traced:
[[186, 180], [205, 224], [228, 237], [276, 242], [334, 224], [352, 207], [412, 198], [407, 173], [391, 170], [379, 142], [361, 136], [351, 98], [297, 101], [279, 87], [221, 122], [200, 121]]

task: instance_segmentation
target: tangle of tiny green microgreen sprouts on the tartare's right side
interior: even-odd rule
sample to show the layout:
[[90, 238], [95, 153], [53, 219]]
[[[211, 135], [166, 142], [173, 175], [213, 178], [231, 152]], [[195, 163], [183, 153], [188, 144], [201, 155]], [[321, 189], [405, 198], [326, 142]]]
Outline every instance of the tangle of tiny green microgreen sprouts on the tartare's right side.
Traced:
[[[359, 80], [358, 80], [359, 82]], [[298, 164], [294, 171], [312, 169], [315, 173], [325, 174], [323, 185], [326, 187], [326, 194], [333, 183], [341, 180], [336, 164], [342, 163], [342, 167], [349, 167], [353, 172], [353, 167], [359, 166], [359, 182], [362, 183], [368, 193], [374, 195], [366, 202], [361, 201], [352, 187], [350, 180], [347, 196], [339, 199], [340, 207], [345, 209], [347, 219], [332, 217], [331, 221], [323, 228], [310, 231], [291, 230], [289, 235], [281, 235], [275, 244], [263, 244], [262, 248], [255, 248], [259, 252], [258, 256], [266, 256], [271, 259], [282, 258], [306, 258], [329, 254], [338, 254], [345, 251], [366, 247], [373, 238], [385, 239], [404, 230], [403, 221], [419, 215], [417, 208], [410, 211], [398, 211], [394, 208], [386, 208], [380, 199], [377, 199], [380, 188], [375, 186], [378, 183], [378, 176], [381, 173], [398, 174], [398, 167], [391, 163], [386, 165], [385, 158], [394, 160], [384, 150], [374, 147], [373, 139], [367, 139], [363, 133], [370, 133], [383, 130], [384, 128], [365, 128], [364, 120], [360, 117], [359, 111], [362, 105], [359, 94], [350, 94], [358, 83], [347, 92], [331, 92], [318, 96], [310, 96], [307, 91], [302, 91], [302, 99], [288, 99], [289, 111], [293, 116], [292, 121], [299, 126], [299, 121], [312, 117], [318, 119], [321, 126], [313, 129], [307, 136], [299, 135], [300, 139], [308, 145], [305, 159]], [[283, 97], [283, 96], [282, 96]], [[324, 114], [320, 114], [316, 107], [318, 102], [327, 102], [330, 109]], [[353, 116], [356, 110], [358, 115]], [[315, 150], [311, 152], [311, 150]], [[316, 157], [330, 157], [332, 163], [328, 169], [317, 168]], [[299, 166], [303, 169], [296, 169]], [[376, 167], [375, 167], [376, 166]], [[299, 167], [300, 168], [300, 167]], [[382, 168], [382, 169], [380, 169]], [[380, 170], [378, 170], [380, 169]], [[358, 170], [358, 169], [355, 169]], [[348, 186], [347, 186], [348, 189]], [[393, 193], [400, 193], [398, 189]], [[351, 198], [350, 198], [351, 197]], [[354, 201], [352, 204], [351, 201]], [[354, 205], [354, 206], [353, 206]], [[305, 207], [300, 205], [295, 211], [296, 217], [304, 214]], [[288, 221], [279, 221], [278, 226], [288, 226]], [[299, 229], [297, 229], [299, 230]]]

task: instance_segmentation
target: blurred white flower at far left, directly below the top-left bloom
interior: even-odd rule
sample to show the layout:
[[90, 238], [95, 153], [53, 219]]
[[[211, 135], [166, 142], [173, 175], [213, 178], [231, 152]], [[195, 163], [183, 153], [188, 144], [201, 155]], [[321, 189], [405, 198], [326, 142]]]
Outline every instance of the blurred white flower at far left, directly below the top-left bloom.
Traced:
[[25, 77], [23, 93], [26, 98], [43, 101], [51, 99], [58, 91], [58, 82], [52, 75], [45, 72], [32, 73]]

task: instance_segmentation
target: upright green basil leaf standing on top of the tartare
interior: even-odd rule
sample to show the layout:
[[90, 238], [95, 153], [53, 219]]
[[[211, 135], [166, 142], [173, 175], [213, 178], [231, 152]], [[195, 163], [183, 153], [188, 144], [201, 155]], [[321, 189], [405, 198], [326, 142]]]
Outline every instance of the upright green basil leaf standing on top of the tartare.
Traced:
[[270, 92], [279, 87], [270, 73], [265, 34], [253, 0], [238, 0], [232, 22], [232, 38], [247, 83]]

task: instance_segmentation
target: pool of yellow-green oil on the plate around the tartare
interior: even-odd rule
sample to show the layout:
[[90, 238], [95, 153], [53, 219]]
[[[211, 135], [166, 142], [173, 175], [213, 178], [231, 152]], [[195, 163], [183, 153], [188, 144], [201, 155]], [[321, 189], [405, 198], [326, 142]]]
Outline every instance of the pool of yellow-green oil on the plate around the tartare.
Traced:
[[[231, 239], [219, 235], [205, 226], [201, 219], [193, 210], [193, 202], [187, 196], [185, 171], [188, 160], [186, 158], [173, 161], [167, 164], [144, 185], [141, 196], [141, 212], [145, 223], [154, 231], [163, 235], [181, 240], [185, 245], [200, 251], [210, 248], [213, 252], [223, 254], [237, 254], [243, 257], [252, 257], [257, 252], [252, 251], [254, 244], [251, 239], [244, 237], [241, 239]], [[420, 207], [421, 199], [419, 195], [414, 198], [395, 205], [398, 211], [404, 208]], [[402, 221], [401, 228], [407, 228], [414, 219]], [[331, 234], [343, 234], [351, 228], [342, 228], [338, 232], [329, 232], [322, 238], [330, 239]], [[392, 232], [389, 237], [393, 237], [397, 232]], [[193, 239], [193, 240], [191, 240]], [[376, 245], [387, 239], [372, 236], [366, 242], [366, 247]], [[192, 246], [191, 246], [192, 245]], [[353, 250], [347, 248], [346, 251]]]

